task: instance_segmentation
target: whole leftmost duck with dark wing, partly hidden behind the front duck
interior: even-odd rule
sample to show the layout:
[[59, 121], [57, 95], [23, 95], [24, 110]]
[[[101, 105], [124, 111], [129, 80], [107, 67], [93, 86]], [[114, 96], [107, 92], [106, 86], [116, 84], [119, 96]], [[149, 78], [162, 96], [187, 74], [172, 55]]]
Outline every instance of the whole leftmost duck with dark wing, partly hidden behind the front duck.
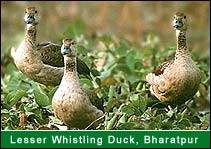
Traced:
[[[17, 68], [28, 78], [47, 85], [58, 86], [64, 70], [61, 45], [52, 42], [36, 43], [38, 11], [35, 7], [25, 9], [24, 22], [26, 33], [18, 48], [11, 50], [11, 56]], [[90, 69], [82, 60], [77, 59], [78, 72], [90, 78]]]

